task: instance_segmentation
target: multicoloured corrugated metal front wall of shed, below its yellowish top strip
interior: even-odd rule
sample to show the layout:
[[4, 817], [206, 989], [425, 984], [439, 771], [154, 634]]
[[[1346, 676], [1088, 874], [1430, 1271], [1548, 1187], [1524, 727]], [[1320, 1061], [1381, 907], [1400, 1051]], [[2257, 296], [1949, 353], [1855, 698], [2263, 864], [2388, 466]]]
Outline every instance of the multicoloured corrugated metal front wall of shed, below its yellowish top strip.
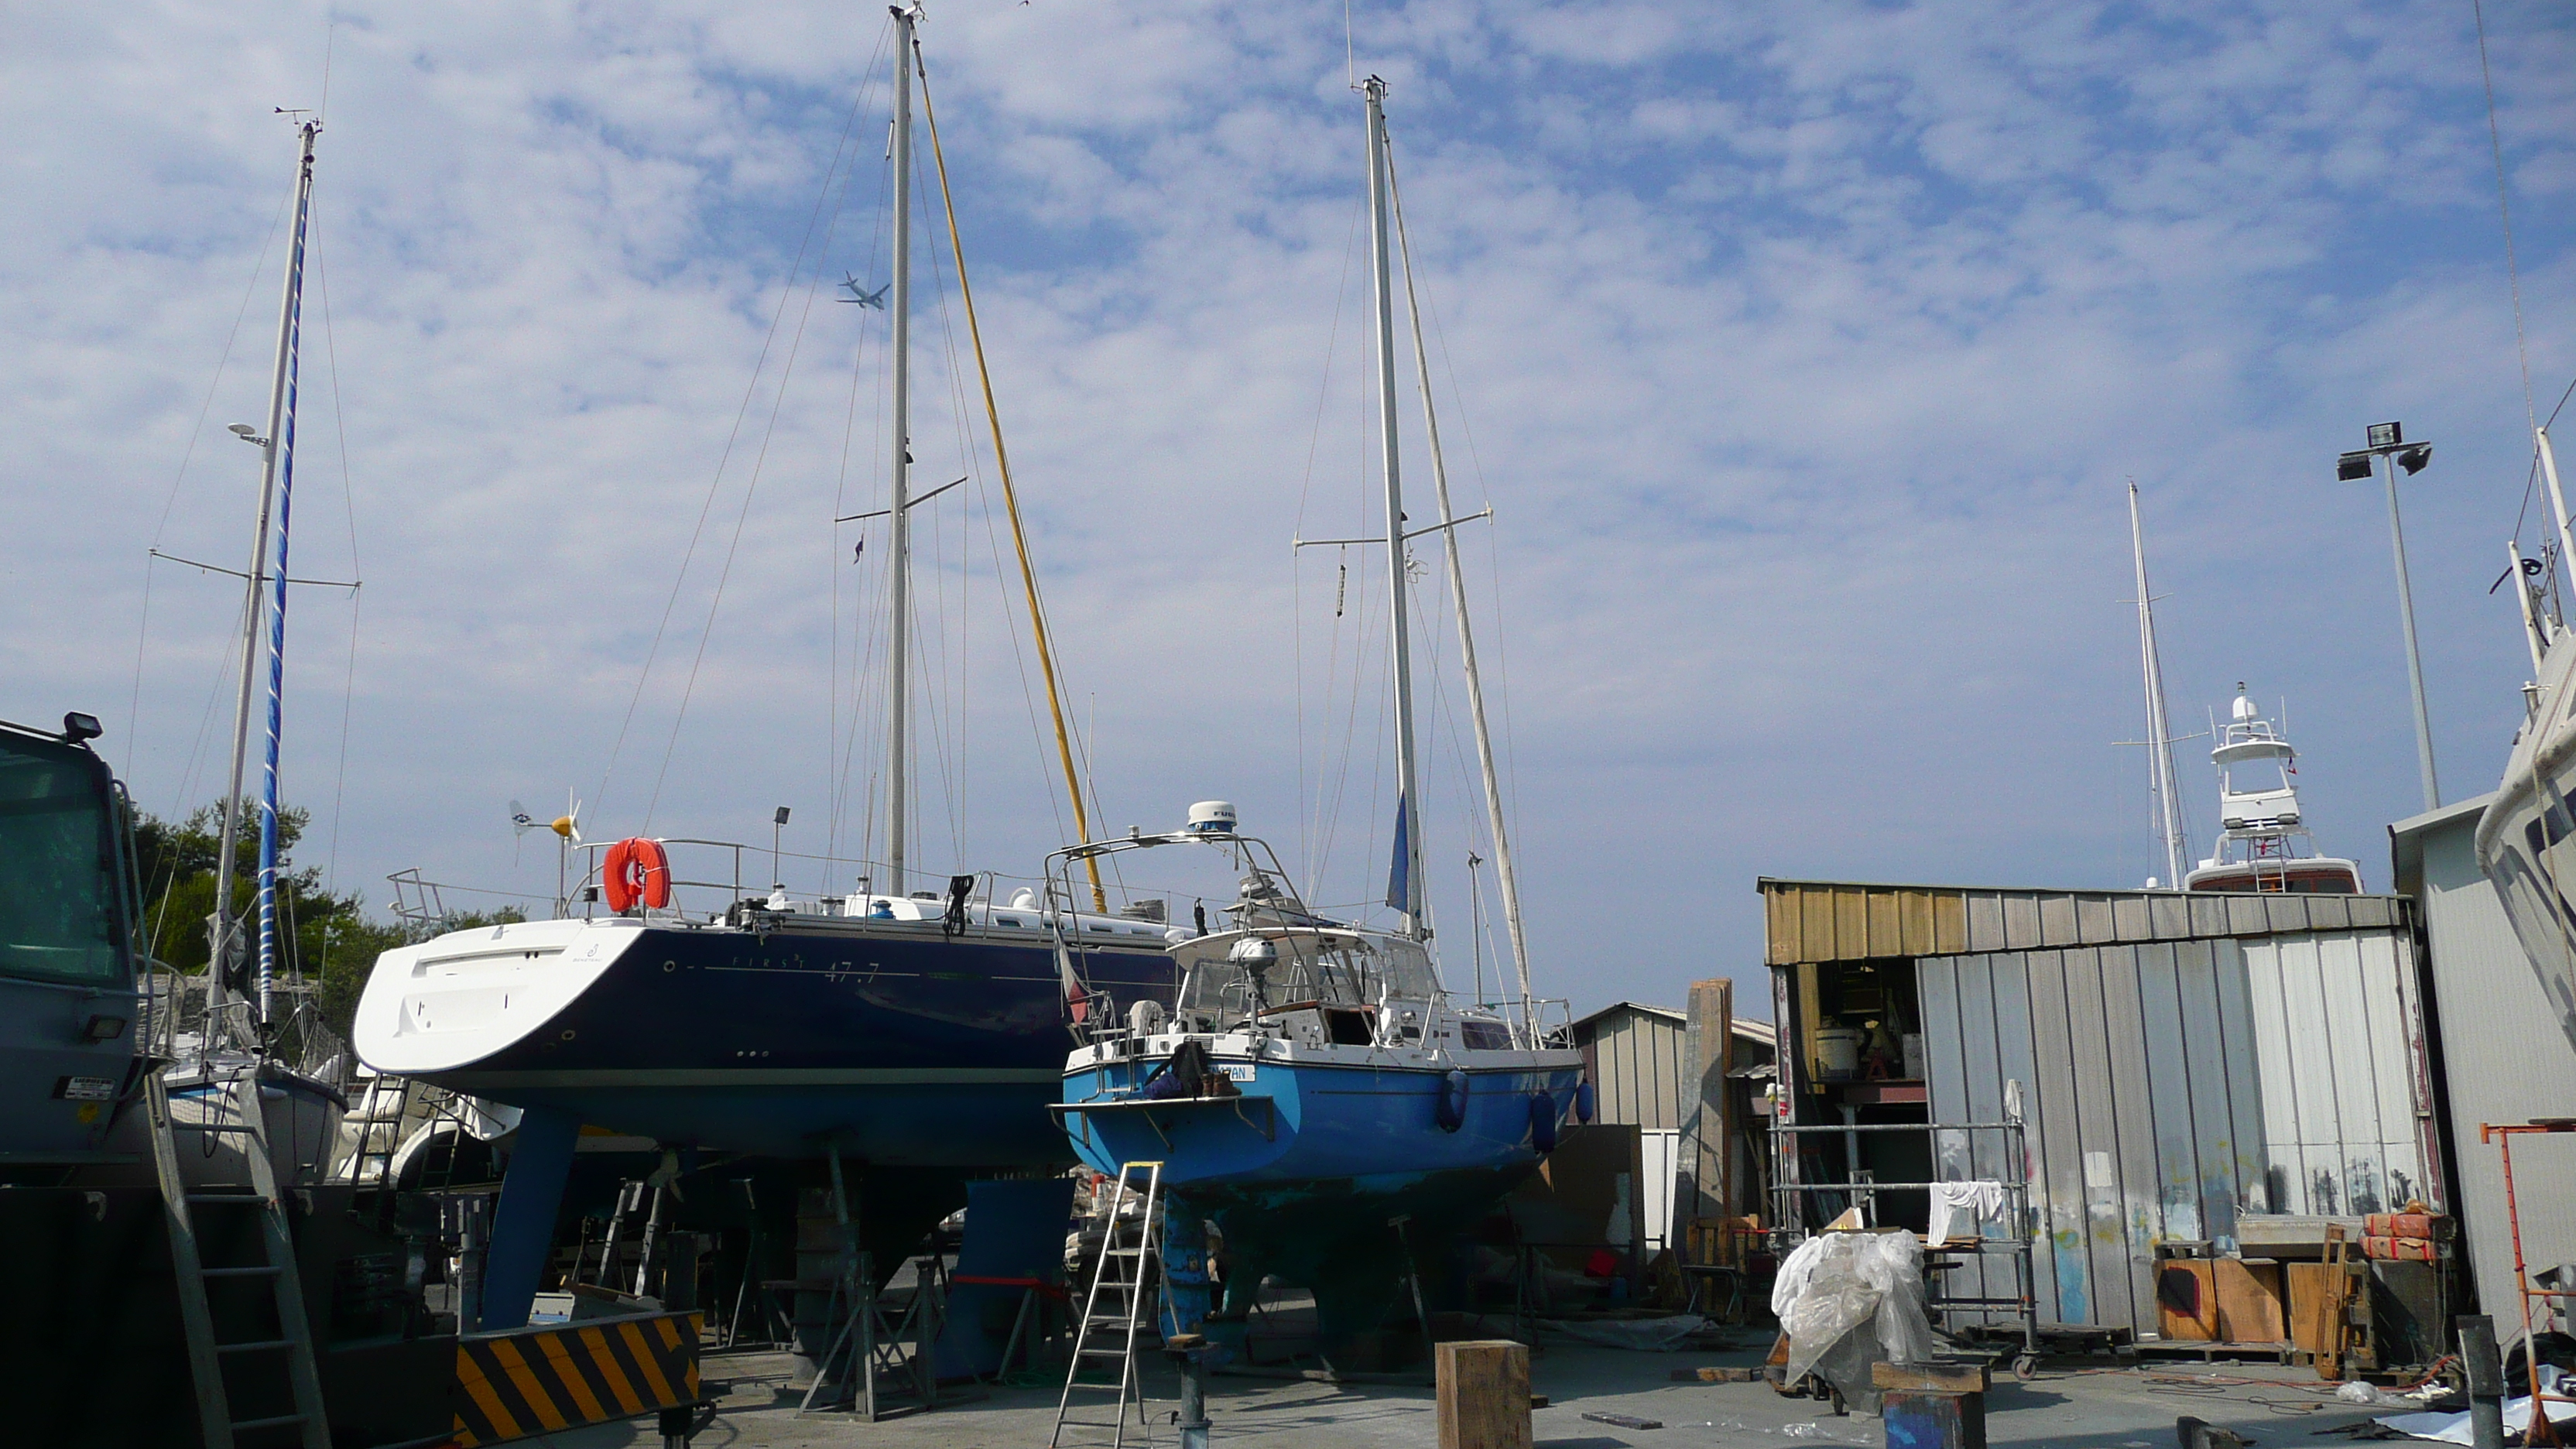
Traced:
[[[2414, 1003], [2375, 1006], [2391, 977], [2411, 977], [2396, 931], [1917, 962], [1932, 1122], [1996, 1122], [2022, 1083], [2040, 1318], [2154, 1330], [2159, 1243], [2226, 1250], [2239, 1214], [2326, 1212], [2318, 1171], [2331, 1212], [2362, 1212], [2354, 1183], [2421, 1183], [2388, 1129], [2416, 1093]], [[1942, 1137], [1942, 1178], [2004, 1176], [1996, 1134]], [[2004, 1258], [1960, 1276], [2009, 1294]]]

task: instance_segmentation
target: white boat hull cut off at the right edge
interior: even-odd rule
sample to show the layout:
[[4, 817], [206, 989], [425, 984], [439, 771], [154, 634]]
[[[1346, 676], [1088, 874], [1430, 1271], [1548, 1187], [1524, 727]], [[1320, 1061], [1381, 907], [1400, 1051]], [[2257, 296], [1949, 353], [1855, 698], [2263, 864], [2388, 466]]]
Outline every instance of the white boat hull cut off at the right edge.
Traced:
[[2540, 709], [2514, 737], [2494, 804], [2478, 817], [2478, 869], [2494, 882], [2558, 1029], [2576, 1049], [2576, 639], [2540, 665]]

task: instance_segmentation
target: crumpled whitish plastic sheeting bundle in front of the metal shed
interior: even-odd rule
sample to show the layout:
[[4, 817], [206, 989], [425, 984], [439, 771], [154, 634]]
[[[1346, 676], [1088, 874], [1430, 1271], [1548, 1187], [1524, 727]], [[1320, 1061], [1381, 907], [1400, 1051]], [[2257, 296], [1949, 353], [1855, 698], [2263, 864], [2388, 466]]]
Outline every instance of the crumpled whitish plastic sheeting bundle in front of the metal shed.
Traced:
[[1824, 1374], [1847, 1403], [1875, 1408], [1870, 1364], [1932, 1356], [1924, 1248], [1893, 1232], [1819, 1232], [1780, 1263], [1772, 1312], [1788, 1330], [1788, 1382]]

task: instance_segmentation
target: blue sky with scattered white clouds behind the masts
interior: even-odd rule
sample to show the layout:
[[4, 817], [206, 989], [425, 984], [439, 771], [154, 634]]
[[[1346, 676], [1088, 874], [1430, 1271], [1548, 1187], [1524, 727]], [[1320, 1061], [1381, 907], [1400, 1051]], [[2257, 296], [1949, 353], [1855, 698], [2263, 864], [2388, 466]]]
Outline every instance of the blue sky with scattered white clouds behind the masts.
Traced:
[[[2424, 802], [2385, 492], [2334, 456], [2434, 441], [2406, 557], [2468, 799], [2530, 676], [2491, 593], [2550, 534], [2530, 423], [2576, 382], [2576, 13], [2483, 21], [2494, 131], [2450, 0], [933, 0], [1095, 833], [1231, 799], [1314, 900], [1383, 892], [1386, 554], [1291, 547], [1383, 536], [1378, 75], [1455, 513], [1492, 508], [1455, 536], [1540, 995], [1734, 975], [1759, 1011], [1757, 877], [2161, 874], [2130, 480], [2174, 732], [2285, 701], [2321, 846], [2385, 890]], [[507, 807], [580, 799], [768, 884], [788, 804], [796, 890], [881, 882], [819, 856], [884, 853], [886, 523], [837, 518], [886, 505], [886, 317], [837, 284], [889, 273], [889, 44], [801, 3], [0, 13], [0, 717], [100, 714], [144, 810], [219, 797], [240, 585], [149, 552], [247, 557], [224, 428], [265, 418], [309, 108], [289, 572], [363, 588], [289, 608], [301, 864], [544, 908]], [[1012, 884], [1072, 820], [922, 165], [912, 477], [966, 485], [912, 513], [912, 866]], [[1412, 593], [1466, 987], [1502, 941], [1437, 536]]]

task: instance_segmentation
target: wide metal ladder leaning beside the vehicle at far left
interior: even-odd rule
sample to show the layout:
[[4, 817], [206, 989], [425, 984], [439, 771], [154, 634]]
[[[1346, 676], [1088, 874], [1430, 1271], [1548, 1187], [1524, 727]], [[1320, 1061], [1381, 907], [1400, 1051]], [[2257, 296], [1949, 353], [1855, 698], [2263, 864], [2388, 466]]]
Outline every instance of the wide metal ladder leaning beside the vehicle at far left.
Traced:
[[[162, 1220], [170, 1232], [170, 1266], [178, 1276], [178, 1315], [188, 1333], [188, 1372], [196, 1379], [196, 1415], [206, 1449], [234, 1449], [242, 1436], [286, 1444], [283, 1431], [296, 1431], [294, 1444], [304, 1449], [330, 1449], [330, 1421], [322, 1408], [322, 1374], [314, 1369], [312, 1325], [304, 1320], [304, 1284], [296, 1276], [296, 1243], [286, 1230], [286, 1204], [278, 1199], [278, 1176], [268, 1160], [268, 1119], [260, 1111], [260, 1078], [245, 1073], [232, 1083], [229, 1119], [216, 1111], [211, 1122], [178, 1122], [170, 1114], [170, 1091], [160, 1073], [144, 1075], [144, 1109], [152, 1122], [152, 1168], [160, 1176]], [[178, 1134], [240, 1137], [242, 1163], [250, 1168], [247, 1189], [191, 1191], [178, 1171]], [[240, 1266], [204, 1263], [196, 1243], [198, 1209], [216, 1214], [252, 1212], [258, 1217], [260, 1261]], [[276, 1330], [270, 1338], [219, 1341], [214, 1336], [214, 1307], [206, 1284], [216, 1279], [268, 1279], [276, 1302]], [[224, 1387], [224, 1364], [268, 1366], [294, 1400], [294, 1413], [265, 1418], [232, 1418], [232, 1392]]]

